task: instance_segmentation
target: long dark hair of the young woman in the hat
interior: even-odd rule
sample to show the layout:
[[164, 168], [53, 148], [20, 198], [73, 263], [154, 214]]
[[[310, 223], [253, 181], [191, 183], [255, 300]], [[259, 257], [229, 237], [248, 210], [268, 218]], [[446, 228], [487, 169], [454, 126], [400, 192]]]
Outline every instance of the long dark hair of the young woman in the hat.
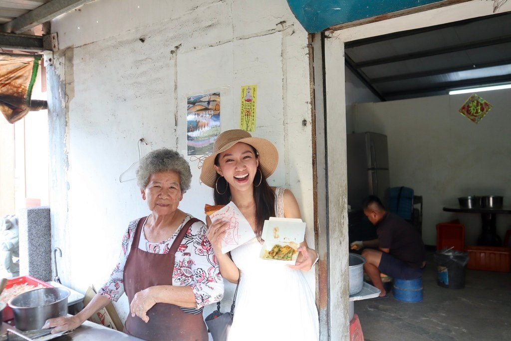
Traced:
[[[252, 146], [250, 146], [252, 147]], [[254, 149], [252, 147], [252, 149]], [[254, 149], [255, 155], [258, 155], [257, 151]], [[218, 157], [215, 158], [215, 165], [219, 166]], [[261, 175], [261, 183], [259, 186], [255, 186], [259, 184], [259, 175]], [[263, 233], [263, 225], [264, 221], [269, 217], [275, 216], [275, 193], [268, 185], [266, 181], [266, 177], [264, 176], [261, 169], [255, 172], [254, 180], [253, 180], [253, 198], [255, 203], [255, 235], [261, 241], [261, 234]], [[220, 193], [217, 192], [220, 191]], [[225, 189], [225, 191], [224, 191]], [[213, 188], [213, 198], [215, 199], [216, 205], [225, 205], [228, 204], [231, 200], [230, 195], [230, 187], [227, 184], [227, 180], [220, 176], [217, 173], [215, 179], [215, 187]]]

